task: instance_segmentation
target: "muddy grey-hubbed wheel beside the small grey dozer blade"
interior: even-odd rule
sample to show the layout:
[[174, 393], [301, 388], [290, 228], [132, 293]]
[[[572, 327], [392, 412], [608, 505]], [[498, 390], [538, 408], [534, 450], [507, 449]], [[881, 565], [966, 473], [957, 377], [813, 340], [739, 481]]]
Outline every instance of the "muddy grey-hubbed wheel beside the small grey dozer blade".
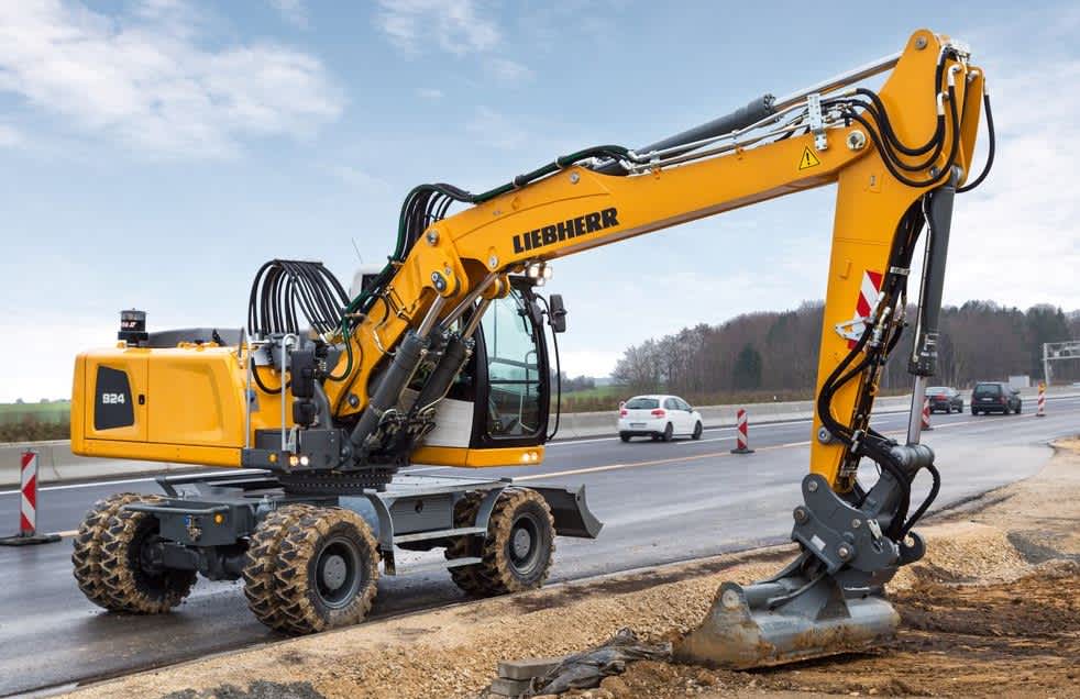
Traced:
[[476, 536], [469, 539], [474, 548], [466, 555], [483, 561], [450, 569], [465, 592], [491, 597], [535, 590], [548, 579], [555, 552], [555, 523], [547, 501], [536, 490], [505, 489], [487, 522], [487, 536], [483, 542]]

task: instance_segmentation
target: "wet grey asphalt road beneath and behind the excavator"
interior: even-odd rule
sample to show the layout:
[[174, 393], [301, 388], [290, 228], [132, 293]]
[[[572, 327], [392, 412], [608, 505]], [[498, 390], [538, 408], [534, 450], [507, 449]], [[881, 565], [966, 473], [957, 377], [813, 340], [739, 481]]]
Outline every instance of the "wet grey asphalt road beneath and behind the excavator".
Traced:
[[[924, 442], [936, 451], [943, 474], [937, 507], [1037, 471], [1049, 457], [1048, 440], [1080, 432], [1080, 397], [1048, 400], [1043, 419], [1034, 418], [1033, 409], [1027, 404], [1027, 412], [1007, 418], [934, 417], [936, 429]], [[875, 426], [902, 434], [906, 414], [881, 415]], [[587, 486], [589, 506], [605, 528], [596, 541], [558, 541], [551, 579], [560, 581], [786, 540], [807, 469], [808, 439], [808, 420], [751, 425], [752, 455], [730, 454], [732, 428], [707, 430], [701, 441], [668, 444], [596, 437], [550, 444], [541, 467], [469, 474]], [[916, 485], [921, 497], [928, 484]], [[150, 478], [43, 488], [41, 529], [75, 530], [95, 500], [118, 491], [157, 488]], [[15, 528], [18, 502], [15, 492], [0, 491], [0, 533]], [[45, 546], [0, 547], [0, 696], [279, 637], [251, 617], [239, 584], [200, 580], [173, 614], [106, 613], [76, 588], [69, 555], [69, 537]], [[384, 577], [373, 615], [462, 599], [444, 570]]]

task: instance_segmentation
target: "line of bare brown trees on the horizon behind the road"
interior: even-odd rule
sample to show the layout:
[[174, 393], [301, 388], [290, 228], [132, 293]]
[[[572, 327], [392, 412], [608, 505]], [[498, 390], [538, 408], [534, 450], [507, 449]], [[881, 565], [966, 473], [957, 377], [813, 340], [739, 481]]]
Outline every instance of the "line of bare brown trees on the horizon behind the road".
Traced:
[[[665, 390], [692, 399], [720, 393], [808, 391], [817, 374], [824, 304], [806, 302], [782, 312], [747, 313], [719, 325], [684, 328], [628, 347], [613, 373], [632, 392]], [[908, 319], [914, 319], [914, 308]], [[911, 385], [907, 357], [913, 329], [889, 359], [882, 388]], [[1080, 311], [1049, 304], [1026, 311], [993, 301], [941, 309], [935, 384], [970, 388], [980, 380], [1043, 376], [1043, 343], [1080, 340]], [[1080, 379], [1080, 362], [1059, 363], [1055, 381]], [[1076, 366], [1069, 366], [1070, 364]]]

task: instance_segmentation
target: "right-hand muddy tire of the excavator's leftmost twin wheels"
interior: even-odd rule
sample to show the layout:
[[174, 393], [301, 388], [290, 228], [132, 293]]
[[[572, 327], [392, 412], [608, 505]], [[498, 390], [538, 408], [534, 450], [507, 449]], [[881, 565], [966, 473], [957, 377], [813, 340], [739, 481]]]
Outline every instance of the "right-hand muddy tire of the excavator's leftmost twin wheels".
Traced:
[[[130, 502], [161, 502], [139, 496]], [[125, 503], [128, 504], [128, 503]], [[148, 512], [117, 509], [101, 536], [101, 585], [106, 609], [135, 614], [163, 614], [191, 592], [197, 574], [155, 565], [146, 546], [159, 540], [161, 523]]]

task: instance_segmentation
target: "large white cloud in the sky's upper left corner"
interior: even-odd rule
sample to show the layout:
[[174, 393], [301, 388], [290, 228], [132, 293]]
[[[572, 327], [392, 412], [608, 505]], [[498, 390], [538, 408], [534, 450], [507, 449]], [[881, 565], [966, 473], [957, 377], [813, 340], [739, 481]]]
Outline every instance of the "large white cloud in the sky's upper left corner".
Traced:
[[0, 91], [76, 129], [174, 157], [250, 136], [311, 134], [342, 97], [318, 58], [269, 43], [211, 46], [179, 0], [108, 16], [80, 3], [0, 3]]

